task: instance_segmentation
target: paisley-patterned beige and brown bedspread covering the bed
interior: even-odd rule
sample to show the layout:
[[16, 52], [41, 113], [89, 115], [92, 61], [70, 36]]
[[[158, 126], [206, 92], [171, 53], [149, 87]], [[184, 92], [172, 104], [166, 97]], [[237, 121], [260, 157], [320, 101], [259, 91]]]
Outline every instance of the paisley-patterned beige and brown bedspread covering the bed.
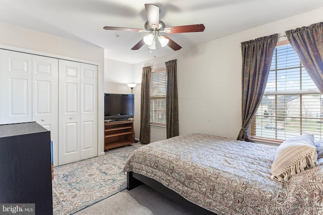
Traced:
[[276, 146], [188, 134], [142, 146], [124, 172], [150, 177], [218, 214], [323, 214], [323, 160], [271, 179]]

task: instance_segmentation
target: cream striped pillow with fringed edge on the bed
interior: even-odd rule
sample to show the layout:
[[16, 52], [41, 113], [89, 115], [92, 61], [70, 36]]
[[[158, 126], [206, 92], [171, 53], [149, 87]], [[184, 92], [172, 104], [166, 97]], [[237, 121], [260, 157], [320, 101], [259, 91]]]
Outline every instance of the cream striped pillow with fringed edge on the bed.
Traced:
[[282, 182], [288, 181], [291, 176], [317, 164], [314, 135], [292, 137], [277, 148], [272, 165], [272, 178]]

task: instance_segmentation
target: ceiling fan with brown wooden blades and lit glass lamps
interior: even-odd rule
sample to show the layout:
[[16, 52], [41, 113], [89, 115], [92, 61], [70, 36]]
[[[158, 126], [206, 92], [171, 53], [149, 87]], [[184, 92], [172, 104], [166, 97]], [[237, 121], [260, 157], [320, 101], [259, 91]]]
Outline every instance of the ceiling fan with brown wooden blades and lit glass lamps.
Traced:
[[138, 50], [144, 44], [148, 45], [150, 49], [156, 49], [156, 40], [160, 42], [160, 45], [164, 47], [165, 45], [170, 46], [172, 49], [179, 50], [182, 47], [174, 42], [168, 36], [161, 35], [160, 33], [166, 34], [175, 34], [175, 33], [187, 33], [187, 32], [201, 32], [204, 31], [205, 27], [203, 24], [196, 25], [183, 25], [183, 26], [175, 26], [175, 27], [167, 27], [165, 23], [159, 20], [159, 7], [153, 4], [145, 4], [146, 14], [148, 21], [145, 23], [145, 29], [136, 29], [136, 28], [122, 28], [122, 27], [109, 27], [104, 26], [105, 30], [117, 30], [117, 31], [138, 31], [138, 32], [149, 32], [147, 36], [142, 38], [135, 46], [133, 46], [132, 50]]

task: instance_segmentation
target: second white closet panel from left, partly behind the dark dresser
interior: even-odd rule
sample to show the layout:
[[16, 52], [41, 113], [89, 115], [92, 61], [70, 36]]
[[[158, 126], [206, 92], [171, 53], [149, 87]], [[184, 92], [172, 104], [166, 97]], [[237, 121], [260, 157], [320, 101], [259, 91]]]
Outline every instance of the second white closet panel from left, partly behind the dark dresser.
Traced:
[[58, 166], [58, 75], [59, 60], [32, 56], [32, 121], [50, 131], [54, 166]]

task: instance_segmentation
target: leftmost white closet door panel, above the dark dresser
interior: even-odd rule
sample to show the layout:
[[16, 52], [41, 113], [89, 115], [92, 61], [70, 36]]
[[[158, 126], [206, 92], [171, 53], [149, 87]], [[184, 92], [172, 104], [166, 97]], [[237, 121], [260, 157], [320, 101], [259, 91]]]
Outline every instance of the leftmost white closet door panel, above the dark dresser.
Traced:
[[0, 49], [0, 124], [31, 122], [31, 55]]

